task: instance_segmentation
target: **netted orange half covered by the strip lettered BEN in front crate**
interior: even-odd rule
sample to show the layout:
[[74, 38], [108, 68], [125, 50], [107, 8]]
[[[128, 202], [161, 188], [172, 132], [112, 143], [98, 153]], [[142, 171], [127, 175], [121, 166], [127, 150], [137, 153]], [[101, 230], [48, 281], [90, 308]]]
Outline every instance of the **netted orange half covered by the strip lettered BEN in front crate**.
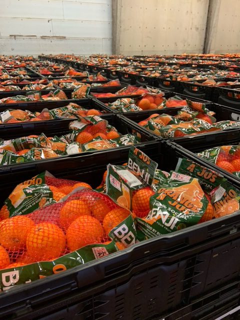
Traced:
[[109, 211], [103, 219], [103, 228], [108, 234], [112, 228], [117, 226], [122, 220], [124, 220], [130, 211], [123, 208], [115, 208]]

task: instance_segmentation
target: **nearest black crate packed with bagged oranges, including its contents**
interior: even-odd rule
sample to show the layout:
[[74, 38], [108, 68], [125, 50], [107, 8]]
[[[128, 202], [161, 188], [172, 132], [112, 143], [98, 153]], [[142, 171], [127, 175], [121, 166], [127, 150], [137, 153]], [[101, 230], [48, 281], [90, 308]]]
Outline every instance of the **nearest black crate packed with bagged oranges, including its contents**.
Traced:
[[[16, 288], [6, 290], [4, 287], [0, 295], [1, 316], [15, 314], [20, 319], [22, 316], [39, 318], [41, 314], [43, 318], [49, 312], [47, 305], [51, 305], [53, 317], [55, 312], [60, 312], [63, 318], [74, 315], [74, 307], [65, 309], [68, 304], [65, 292], [74, 300], [78, 296], [75, 301], [81, 305], [81, 311], [77, 312], [82, 319], [98, 312], [103, 313], [105, 319], [112, 319], [116, 312], [131, 319], [143, 296], [148, 303], [142, 303], [138, 315], [141, 318], [160, 316], [169, 313], [169, 309], [174, 311], [194, 303], [197, 296], [219, 289], [237, 277], [238, 264], [232, 262], [238, 261], [239, 212], [228, 214], [224, 206], [219, 209], [222, 200], [215, 199], [211, 204], [210, 194], [214, 188], [214, 192], [218, 188], [230, 188], [236, 192], [238, 201], [239, 190], [230, 179], [223, 179], [210, 167], [203, 167], [199, 159], [169, 143], [157, 145], [146, 146], [157, 162], [140, 149], [132, 148], [130, 152], [124, 149], [121, 153], [103, 151], [80, 162], [76, 157], [65, 158], [58, 163], [39, 163], [29, 170], [19, 164], [14, 173], [9, 169], [0, 172], [8, 181], [2, 183], [2, 200], [9, 192], [0, 210], [2, 263], [6, 267], [0, 273], [4, 279], [5, 272], [10, 270], [19, 274], [15, 278], [12, 273], [13, 280], [3, 281], [3, 285], [7, 283]], [[168, 157], [161, 156], [165, 152]], [[179, 166], [179, 156], [186, 158], [189, 165], [195, 165], [188, 175], [184, 163]], [[110, 164], [106, 167], [107, 163]], [[51, 174], [42, 172], [44, 167]], [[207, 172], [209, 183], [197, 176], [199, 169]], [[215, 183], [210, 182], [210, 172], [216, 177]], [[117, 181], [120, 188], [116, 188]], [[173, 190], [181, 193], [181, 203], [175, 200]], [[190, 205], [192, 192], [198, 193], [193, 206]], [[227, 196], [222, 196], [227, 201]], [[25, 201], [27, 206], [22, 205]], [[159, 206], [161, 201], [167, 204], [168, 213], [164, 206]], [[222, 212], [222, 217], [211, 220], [217, 212], [215, 208]], [[21, 209], [25, 214], [15, 215], [14, 212]], [[155, 215], [156, 209], [162, 211], [161, 214], [165, 212], [164, 219]], [[74, 211], [74, 215], [69, 215], [69, 210]], [[182, 210], [187, 210], [186, 216]], [[24, 223], [24, 232], [18, 231], [21, 223]], [[232, 228], [234, 232], [230, 231]], [[15, 232], [19, 241], [10, 242], [10, 232]], [[46, 235], [46, 240], [41, 234]], [[98, 243], [88, 244], [94, 241]], [[74, 251], [79, 246], [81, 249]], [[226, 252], [229, 253], [226, 255]], [[216, 263], [222, 267], [217, 273], [214, 271], [213, 277]], [[44, 279], [37, 281], [39, 277]], [[25, 283], [29, 280], [32, 283]], [[19, 283], [24, 283], [26, 288], [24, 298], [22, 287], [17, 288]], [[164, 292], [161, 296], [156, 294], [159, 288]], [[31, 303], [30, 309], [25, 307], [26, 299]], [[152, 299], [154, 303], [150, 303]]]

